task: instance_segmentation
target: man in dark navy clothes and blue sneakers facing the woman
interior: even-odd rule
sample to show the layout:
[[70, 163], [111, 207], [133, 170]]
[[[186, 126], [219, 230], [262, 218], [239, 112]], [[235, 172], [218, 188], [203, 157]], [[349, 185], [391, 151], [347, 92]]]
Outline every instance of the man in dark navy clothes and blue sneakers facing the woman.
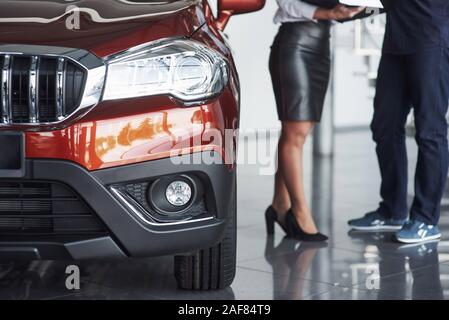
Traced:
[[[448, 173], [449, 1], [390, 0], [379, 67], [374, 141], [382, 176], [379, 208], [349, 221], [357, 230], [399, 230], [398, 241], [441, 237], [440, 203]], [[407, 209], [405, 124], [413, 109], [419, 148], [415, 198]]]

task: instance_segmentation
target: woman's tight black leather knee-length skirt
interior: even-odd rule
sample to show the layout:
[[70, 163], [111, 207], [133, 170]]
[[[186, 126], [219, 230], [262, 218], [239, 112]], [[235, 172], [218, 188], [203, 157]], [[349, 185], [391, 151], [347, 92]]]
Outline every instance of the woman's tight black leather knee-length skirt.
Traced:
[[319, 122], [329, 85], [329, 22], [284, 23], [271, 47], [270, 73], [281, 121]]

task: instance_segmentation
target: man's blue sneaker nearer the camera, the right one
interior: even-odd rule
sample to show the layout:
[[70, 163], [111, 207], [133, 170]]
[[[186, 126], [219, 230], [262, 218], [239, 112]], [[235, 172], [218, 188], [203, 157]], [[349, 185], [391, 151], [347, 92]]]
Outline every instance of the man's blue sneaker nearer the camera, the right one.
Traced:
[[410, 220], [396, 233], [396, 239], [402, 243], [418, 243], [440, 239], [441, 233], [437, 226], [432, 226], [417, 220]]

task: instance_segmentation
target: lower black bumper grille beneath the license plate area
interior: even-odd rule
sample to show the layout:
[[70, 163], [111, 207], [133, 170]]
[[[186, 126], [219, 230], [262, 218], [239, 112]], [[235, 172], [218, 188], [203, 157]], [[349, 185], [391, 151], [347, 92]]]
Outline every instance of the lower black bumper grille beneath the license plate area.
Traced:
[[0, 182], [1, 234], [98, 235], [106, 228], [68, 186]]

